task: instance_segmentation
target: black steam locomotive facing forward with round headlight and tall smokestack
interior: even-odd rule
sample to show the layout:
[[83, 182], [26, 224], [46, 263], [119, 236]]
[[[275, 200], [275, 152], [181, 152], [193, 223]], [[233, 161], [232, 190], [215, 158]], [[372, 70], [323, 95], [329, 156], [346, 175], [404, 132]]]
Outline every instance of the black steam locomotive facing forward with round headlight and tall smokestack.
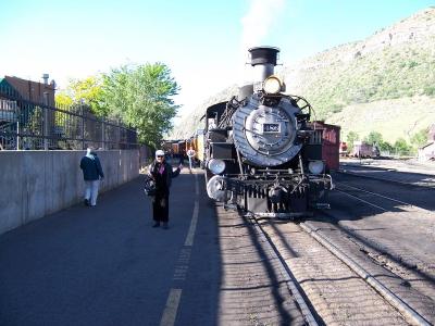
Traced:
[[294, 218], [328, 208], [333, 188], [322, 160], [312, 108], [286, 95], [274, 75], [278, 48], [249, 49], [253, 83], [206, 111], [208, 196], [260, 217]]

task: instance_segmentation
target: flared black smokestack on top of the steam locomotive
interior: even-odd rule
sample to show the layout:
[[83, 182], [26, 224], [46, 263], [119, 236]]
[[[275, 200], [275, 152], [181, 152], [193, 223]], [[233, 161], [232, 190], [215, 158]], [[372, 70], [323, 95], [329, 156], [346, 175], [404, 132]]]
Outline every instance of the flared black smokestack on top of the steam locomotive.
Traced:
[[279, 53], [278, 48], [256, 47], [250, 48], [248, 51], [251, 54], [251, 65], [256, 70], [254, 82], [263, 82], [265, 78], [273, 75]]

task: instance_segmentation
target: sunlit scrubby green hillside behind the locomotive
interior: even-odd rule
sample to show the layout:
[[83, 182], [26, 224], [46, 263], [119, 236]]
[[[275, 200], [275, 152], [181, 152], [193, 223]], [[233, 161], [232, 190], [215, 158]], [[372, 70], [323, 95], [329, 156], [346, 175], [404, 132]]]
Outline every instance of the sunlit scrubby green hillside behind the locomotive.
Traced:
[[[380, 131], [388, 141], [409, 139], [435, 122], [435, 8], [287, 65], [282, 74], [287, 91], [307, 98], [318, 120], [341, 126], [341, 138], [353, 130], [361, 137]], [[210, 99], [174, 135], [191, 135], [208, 104], [235, 92], [233, 86]]]

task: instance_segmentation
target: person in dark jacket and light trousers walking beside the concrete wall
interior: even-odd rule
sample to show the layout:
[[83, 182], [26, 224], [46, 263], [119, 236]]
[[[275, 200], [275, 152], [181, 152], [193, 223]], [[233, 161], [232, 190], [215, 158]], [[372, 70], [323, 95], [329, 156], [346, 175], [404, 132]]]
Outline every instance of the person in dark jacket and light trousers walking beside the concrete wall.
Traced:
[[97, 205], [98, 188], [100, 179], [104, 178], [100, 160], [94, 148], [86, 150], [86, 155], [80, 160], [80, 168], [85, 180], [85, 205]]

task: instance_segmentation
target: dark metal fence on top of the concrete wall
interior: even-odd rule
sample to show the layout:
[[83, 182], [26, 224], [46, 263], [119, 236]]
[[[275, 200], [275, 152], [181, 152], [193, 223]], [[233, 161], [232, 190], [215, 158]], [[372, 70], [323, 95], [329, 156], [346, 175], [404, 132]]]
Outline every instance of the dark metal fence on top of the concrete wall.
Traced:
[[0, 88], [0, 150], [136, 149], [137, 133], [95, 116], [89, 106], [52, 106]]

